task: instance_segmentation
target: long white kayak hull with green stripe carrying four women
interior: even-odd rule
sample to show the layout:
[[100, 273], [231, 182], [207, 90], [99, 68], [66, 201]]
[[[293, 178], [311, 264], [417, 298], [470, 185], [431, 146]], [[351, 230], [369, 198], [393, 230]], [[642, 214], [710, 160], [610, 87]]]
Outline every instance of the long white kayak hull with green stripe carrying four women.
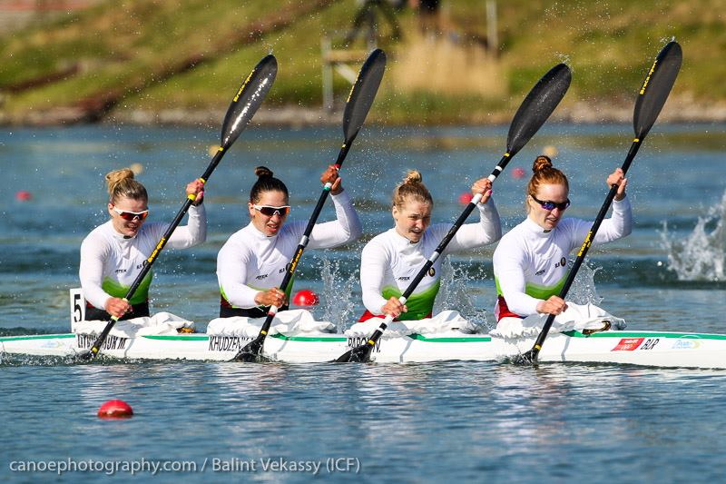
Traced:
[[[101, 354], [116, 359], [229, 361], [248, 337], [204, 333], [109, 336]], [[270, 335], [263, 356], [272, 361], [323, 362], [337, 359], [361, 344], [361, 338], [338, 333], [306, 336]], [[41, 334], [0, 337], [0, 352], [68, 357], [89, 349], [87, 334]], [[409, 361], [503, 361], [532, 348], [534, 339], [504, 340], [489, 334], [447, 331], [383, 339], [372, 353], [381, 363]], [[653, 367], [726, 368], [726, 335], [678, 331], [580, 331], [552, 334], [539, 361], [633, 364]]]

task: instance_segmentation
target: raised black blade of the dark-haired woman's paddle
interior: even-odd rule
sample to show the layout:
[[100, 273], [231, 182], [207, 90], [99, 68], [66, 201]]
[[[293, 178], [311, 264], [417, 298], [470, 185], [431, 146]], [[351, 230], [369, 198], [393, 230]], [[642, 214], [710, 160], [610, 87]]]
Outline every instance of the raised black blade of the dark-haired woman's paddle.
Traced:
[[363, 122], [366, 121], [385, 70], [386, 54], [380, 49], [370, 53], [363, 67], [360, 68], [358, 79], [350, 88], [346, 110], [343, 113], [343, 134], [347, 144], [358, 135]]

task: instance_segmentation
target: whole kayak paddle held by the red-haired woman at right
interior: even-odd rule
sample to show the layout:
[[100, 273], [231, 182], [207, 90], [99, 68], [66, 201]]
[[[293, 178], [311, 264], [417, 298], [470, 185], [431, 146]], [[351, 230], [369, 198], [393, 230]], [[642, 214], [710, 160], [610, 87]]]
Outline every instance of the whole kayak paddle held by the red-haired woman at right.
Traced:
[[[643, 81], [643, 87], [638, 92], [638, 99], [635, 101], [635, 111], [633, 113], [633, 131], [635, 132], [635, 139], [631, 144], [630, 150], [628, 151], [623, 166], [623, 174], [628, 172], [630, 164], [633, 162], [635, 153], [638, 153], [645, 135], [651, 131], [655, 119], [658, 114], [661, 113], [665, 100], [668, 99], [668, 94], [671, 93], [673, 83], [678, 75], [679, 69], [681, 69], [683, 54], [681, 51], [681, 45], [677, 42], [672, 41], [662, 48], [661, 53], [655, 58], [651, 70], [645, 76]], [[600, 228], [600, 224], [603, 222], [605, 215], [607, 215], [610, 209], [610, 204], [613, 202], [613, 198], [618, 191], [618, 186], [613, 185], [610, 188], [610, 192], [605, 198], [605, 202], [598, 212], [593, 226], [590, 232], [584, 239], [583, 245], [580, 247], [580, 251], [577, 252], [577, 258], [574, 260], [573, 268], [567, 275], [567, 279], [564, 281], [564, 286], [560, 290], [558, 296], [562, 299], [567, 295], [570, 286], [574, 282], [574, 277], [577, 275], [577, 271], [584, 262], [584, 257], [587, 255], [587, 251], [590, 250], [590, 245], [593, 243], [595, 233]], [[547, 320], [544, 321], [542, 331], [535, 341], [535, 346], [532, 350], [525, 352], [515, 359], [515, 363], [531, 363], [536, 364], [537, 355], [542, 350], [544, 339], [547, 337], [547, 332], [550, 331], [552, 323], [554, 322], [554, 314], [550, 314]]]

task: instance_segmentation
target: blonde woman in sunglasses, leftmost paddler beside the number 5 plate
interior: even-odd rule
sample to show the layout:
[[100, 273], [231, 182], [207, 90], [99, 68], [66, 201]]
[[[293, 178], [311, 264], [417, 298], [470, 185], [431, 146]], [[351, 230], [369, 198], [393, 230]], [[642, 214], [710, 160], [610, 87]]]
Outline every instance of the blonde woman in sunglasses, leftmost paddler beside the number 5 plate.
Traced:
[[[133, 179], [128, 168], [106, 175], [111, 220], [93, 229], [81, 244], [79, 275], [86, 300], [86, 321], [122, 320], [149, 316], [149, 286], [153, 273], [144, 277], [130, 301], [126, 292], [143, 264], [159, 243], [168, 223], [145, 222], [149, 215], [149, 196], [142, 183]], [[186, 187], [196, 195], [189, 209], [189, 224], [177, 227], [167, 242], [172, 249], [197, 245], [207, 237], [207, 216], [201, 204], [204, 183], [195, 180]]]

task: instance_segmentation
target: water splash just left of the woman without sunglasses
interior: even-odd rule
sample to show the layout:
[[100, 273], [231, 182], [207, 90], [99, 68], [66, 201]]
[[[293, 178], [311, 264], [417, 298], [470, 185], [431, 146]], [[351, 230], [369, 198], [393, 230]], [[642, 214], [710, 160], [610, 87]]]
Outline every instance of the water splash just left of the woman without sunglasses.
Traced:
[[335, 324], [338, 332], [345, 331], [352, 324], [349, 321], [358, 321], [355, 315], [356, 303], [353, 301], [353, 288], [358, 284], [358, 271], [346, 276], [338, 261], [330, 261], [324, 255], [319, 255], [318, 259], [323, 282], [320, 297], [322, 321]]

